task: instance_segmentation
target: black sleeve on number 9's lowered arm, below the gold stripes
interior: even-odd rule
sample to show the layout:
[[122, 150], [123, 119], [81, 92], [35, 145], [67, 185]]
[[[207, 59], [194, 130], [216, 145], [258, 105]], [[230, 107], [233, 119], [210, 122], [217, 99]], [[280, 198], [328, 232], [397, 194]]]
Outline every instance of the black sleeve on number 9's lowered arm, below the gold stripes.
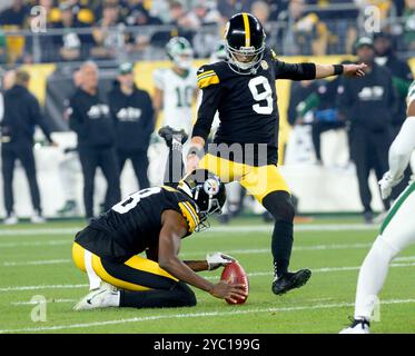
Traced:
[[219, 100], [219, 86], [214, 85], [202, 89], [201, 103], [197, 112], [197, 121], [194, 126], [191, 137], [199, 136], [205, 140], [208, 138]]

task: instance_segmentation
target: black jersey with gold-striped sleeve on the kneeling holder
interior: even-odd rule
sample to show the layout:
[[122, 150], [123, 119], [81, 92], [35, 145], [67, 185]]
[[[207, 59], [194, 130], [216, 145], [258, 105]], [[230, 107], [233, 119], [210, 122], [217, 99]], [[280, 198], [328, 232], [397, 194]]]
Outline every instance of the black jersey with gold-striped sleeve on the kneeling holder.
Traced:
[[101, 258], [125, 261], [145, 250], [158, 249], [161, 214], [176, 210], [188, 224], [188, 235], [198, 224], [195, 202], [169, 187], [137, 191], [92, 219], [79, 231], [76, 241]]

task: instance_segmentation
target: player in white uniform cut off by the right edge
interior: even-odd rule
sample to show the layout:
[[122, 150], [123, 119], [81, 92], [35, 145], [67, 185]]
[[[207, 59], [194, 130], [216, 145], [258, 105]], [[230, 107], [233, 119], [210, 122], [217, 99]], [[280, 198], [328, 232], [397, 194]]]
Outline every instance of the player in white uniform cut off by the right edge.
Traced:
[[[382, 198], [404, 178], [415, 149], [415, 82], [407, 96], [407, 118], [389, 149], [389, 170], [379, 181]], [[385, 284], [391, 261], [408, 245], [415, 244], [415, 181], [396, 199], [381, 233], [366, 256], [357, 281], [355, 316], [352, 325], [340, 334], [369, 334], [372, 313], [377, 295]]]

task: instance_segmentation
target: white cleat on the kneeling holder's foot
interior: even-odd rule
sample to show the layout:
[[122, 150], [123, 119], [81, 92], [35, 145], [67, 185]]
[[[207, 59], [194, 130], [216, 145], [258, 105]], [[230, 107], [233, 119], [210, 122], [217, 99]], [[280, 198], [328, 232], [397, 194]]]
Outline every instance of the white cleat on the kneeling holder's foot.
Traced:
[[119, 306], [119, 290], [102, 281], [99, 288], [91, 290], [77, 303], [73, 310], [91, 310]]

